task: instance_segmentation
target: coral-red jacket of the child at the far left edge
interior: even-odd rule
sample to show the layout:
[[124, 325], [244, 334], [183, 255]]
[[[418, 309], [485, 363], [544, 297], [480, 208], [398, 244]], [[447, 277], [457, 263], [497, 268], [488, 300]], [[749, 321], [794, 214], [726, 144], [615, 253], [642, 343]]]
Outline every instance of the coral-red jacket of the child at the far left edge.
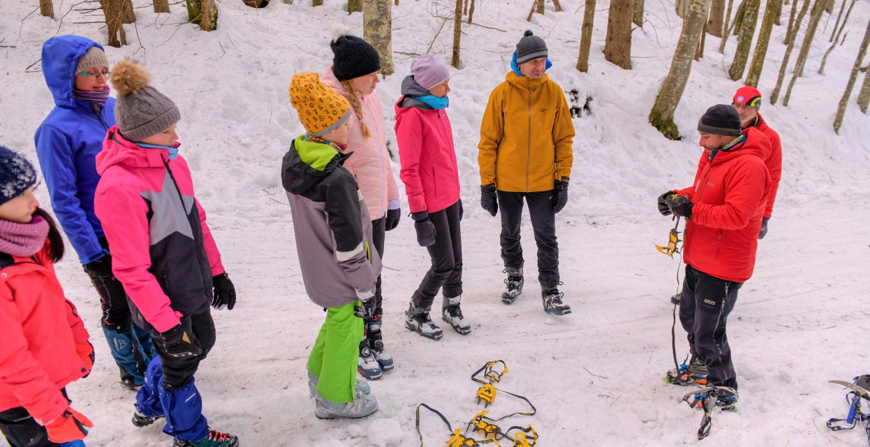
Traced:
[[0, 411], [24, 407], [48, 423], [64, 413], [60, 390], [84, 376], [76, 345], [88, 340], [55, 277], [47, 248], [0, 270]]

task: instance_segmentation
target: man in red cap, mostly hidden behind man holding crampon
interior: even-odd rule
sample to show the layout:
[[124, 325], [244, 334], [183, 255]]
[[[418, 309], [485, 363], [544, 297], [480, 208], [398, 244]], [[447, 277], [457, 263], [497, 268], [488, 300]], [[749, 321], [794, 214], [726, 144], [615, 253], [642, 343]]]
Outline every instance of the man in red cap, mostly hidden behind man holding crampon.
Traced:
[[733, 103], [734, 109], [740, 114], [740, 127], [744, 132], [749, 129], [760, 130], [770, 142], [770, 151], [767, 152], [764, 164], [767, 171], [770, 172], [770, 191], [767, 193], [767, 205], [764, 210], [764, 217], [761, 218], [761, 230], [759, 231], [759, 239], [764, 239], [767, 234], [767, 221], [770, 220], [770, 215], [773, 213], [773, 202], [776, 201], [776, 191], [780, 189], [780, 174], [782, 173], [782, 143], [780, 142], [780, 134], [776, 130], [767, 125], [764, 118], [759, 114], [761, 108], [761, 92], [751, 85], [740, 87], [734, 93]]

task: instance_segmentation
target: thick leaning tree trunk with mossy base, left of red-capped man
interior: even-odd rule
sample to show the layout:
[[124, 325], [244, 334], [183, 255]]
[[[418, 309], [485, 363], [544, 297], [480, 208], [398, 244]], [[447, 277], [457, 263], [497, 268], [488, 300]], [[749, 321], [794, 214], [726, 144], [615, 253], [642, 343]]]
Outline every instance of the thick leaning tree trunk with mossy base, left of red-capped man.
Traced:
[[672, 140], [679, 140], [679, 129], [677, 129], [677, 124], [673, 122], [673, 112], [677, 110], [679, 100], [683, 97], [683, 91], [686, 90], [686, 83], [688, 83], [689, 74], [692, 72], [692, 57], [695, 49], [698, 48], [704, 23], [710, 14], [712, 0], [688, 1], [688, 13], [683, 22], [683, 30], [679, 35], [677, 49], [673, 51], [671, 70], [668, 71], [665, 83], [659, 90], [659, 96], [655, 98], [655, 104], [653, 110], [650, 110], [649, 116], [653, 127]]

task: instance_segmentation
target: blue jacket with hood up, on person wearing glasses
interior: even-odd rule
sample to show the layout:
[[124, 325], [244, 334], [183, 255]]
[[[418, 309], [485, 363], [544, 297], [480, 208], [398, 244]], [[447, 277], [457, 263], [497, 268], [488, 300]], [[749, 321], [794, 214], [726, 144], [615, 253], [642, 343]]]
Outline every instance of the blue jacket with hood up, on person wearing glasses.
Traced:
[[73, 95], [78, 59], [92, 47], [103, 49], [78, 36], [51, 37], [43, 43], [43, 76], [55, 108], [34, 137], [51, 208], [82, 264], [108, 254], [97, 239], [104, 234], [94, 214], [94, 191], [100, 180], [94, 157], [103, 150], [106, 131], [115, 125], [114, 98], [97, 112], [92, 103]]

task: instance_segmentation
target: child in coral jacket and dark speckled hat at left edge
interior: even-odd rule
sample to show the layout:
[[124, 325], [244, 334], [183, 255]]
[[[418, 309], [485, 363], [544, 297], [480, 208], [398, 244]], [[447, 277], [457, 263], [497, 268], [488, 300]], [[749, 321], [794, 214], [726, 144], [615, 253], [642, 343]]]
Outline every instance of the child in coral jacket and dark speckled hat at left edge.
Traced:
[[94, 348], [55, 277], [64, 240], [34, 183], [33, 165], [0, 146], [0, 432], [12, 447], [84, 446], [93, 424], [64, 387], [90, 373]]

